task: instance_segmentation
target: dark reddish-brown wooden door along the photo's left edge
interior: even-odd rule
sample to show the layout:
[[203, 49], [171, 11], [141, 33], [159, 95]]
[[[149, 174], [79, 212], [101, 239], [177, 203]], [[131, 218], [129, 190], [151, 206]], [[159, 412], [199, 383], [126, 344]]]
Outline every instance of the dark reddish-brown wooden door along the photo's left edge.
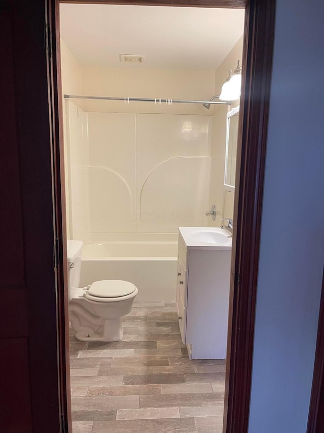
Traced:
[[67, 412], [58, 359], [58, 352], [68, 355], [58, 350], [64, 284], [53, 260], [64, 220], [55, 191], [50, 6], [50, 0], [0, 0], [0, 431], [6, 433], [58, 433]]

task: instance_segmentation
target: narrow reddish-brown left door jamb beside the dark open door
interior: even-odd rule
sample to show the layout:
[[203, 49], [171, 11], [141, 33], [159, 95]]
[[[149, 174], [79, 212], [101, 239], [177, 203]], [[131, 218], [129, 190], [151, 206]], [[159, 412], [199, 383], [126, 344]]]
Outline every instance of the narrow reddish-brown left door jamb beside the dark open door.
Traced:
[[68, 323], [67, 287], [67, 244], [66, 244], [66, 206], [63, 144], [63, 112], [61, 91], [61, 57], [59, 32], [59, 4], [55, 0], [47, 0], [47, 38], [50, 48], [48, 53], [49, 105], [52, 113], [53, 137], [53, 198], [55, 202], [55, 231], [57, 254], [57, 316], [58, 316], [58, 358], [59, 358], [59, 397], [60, 428], [72, 431], [71, 390], [70, 390], [70, 354]]

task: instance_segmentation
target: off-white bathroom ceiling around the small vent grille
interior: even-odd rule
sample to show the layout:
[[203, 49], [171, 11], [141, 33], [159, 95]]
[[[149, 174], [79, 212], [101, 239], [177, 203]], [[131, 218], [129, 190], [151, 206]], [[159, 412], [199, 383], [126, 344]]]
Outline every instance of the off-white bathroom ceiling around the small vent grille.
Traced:
[[60, 4], [60, 26], [81, 65], [215, 70], [243, 34], [244, 10]]

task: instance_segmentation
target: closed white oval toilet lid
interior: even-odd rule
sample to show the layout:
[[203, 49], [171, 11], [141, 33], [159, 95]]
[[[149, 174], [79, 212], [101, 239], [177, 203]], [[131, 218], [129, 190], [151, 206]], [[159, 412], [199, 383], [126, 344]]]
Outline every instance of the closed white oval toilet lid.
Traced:
[[102, 280], [95, 281], [89, 287], [88, 293], [97, 297], [120, 297], [134, 293], [136, 287], [129, 281]]

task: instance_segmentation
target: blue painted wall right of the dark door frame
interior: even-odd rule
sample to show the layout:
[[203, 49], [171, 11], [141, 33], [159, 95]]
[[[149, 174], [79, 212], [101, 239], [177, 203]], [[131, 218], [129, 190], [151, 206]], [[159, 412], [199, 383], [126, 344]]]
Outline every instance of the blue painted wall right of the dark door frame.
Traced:
[[249, 433], [305, 433], [324, 262], [324, 2], [279, 0]]

